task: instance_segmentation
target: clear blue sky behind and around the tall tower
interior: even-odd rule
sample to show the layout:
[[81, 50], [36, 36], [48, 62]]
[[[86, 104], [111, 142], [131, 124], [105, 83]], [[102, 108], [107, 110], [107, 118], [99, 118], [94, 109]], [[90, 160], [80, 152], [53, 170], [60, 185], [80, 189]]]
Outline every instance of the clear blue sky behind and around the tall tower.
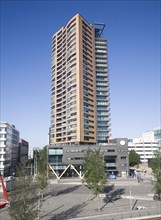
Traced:
[[30, 147], [48, 144], [51, 38], [76, 13], [106, 24], [111, 138], [160, 126], [160, 1], [1, 0], [1, 121]]

